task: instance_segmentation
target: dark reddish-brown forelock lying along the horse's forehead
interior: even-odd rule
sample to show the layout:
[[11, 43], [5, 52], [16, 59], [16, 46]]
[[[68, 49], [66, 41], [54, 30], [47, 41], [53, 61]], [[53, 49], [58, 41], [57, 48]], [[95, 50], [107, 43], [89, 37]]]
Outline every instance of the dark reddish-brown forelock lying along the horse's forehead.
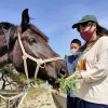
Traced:
[[49, 38], [41, 30], [39, 30], [36, 26], [33, 26], [33, 25], [30, 24], [29, 28], [31, 30], [33, 30], [37, 35], [39, 35], [45, 42], [49, 41]]

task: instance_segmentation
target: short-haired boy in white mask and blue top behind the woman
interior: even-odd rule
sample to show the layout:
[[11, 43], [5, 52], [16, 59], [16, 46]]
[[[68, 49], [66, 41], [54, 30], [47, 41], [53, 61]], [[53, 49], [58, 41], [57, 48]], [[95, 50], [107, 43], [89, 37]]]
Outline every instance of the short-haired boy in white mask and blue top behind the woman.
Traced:
[[[68, 56], [66, 59], [67, 70], [69, 76], [76, 71], [77, 63], [79, 59], [79, 49], [81, 48], [81, 41], [73, 39], [70, 43], [70, 51], [72, 55]], [[72, 90], [67, 92], [67, 108], [77, 108], [80, 98], [76, 97]]]

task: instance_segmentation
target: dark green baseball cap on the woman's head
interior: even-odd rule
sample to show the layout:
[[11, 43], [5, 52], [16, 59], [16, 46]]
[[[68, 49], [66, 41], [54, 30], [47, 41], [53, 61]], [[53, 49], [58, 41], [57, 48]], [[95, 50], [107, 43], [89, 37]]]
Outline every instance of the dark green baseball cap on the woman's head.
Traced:
[[79, 26], [79, 24], [85, 23], [89, 21], [97, 23], [97, 18], [94, 15], [85, 15], [77, 24], [73, 24], [72, 28], [77, 28]]

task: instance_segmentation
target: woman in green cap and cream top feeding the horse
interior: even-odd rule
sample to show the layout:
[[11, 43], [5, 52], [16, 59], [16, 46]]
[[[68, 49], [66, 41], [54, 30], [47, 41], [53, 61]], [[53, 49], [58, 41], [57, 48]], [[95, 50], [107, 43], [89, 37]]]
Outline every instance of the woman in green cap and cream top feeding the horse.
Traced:
[[94, 15], [83, 16], [72, 28], [85, 40], [76, 72], [81, 82], [78, 108], [108, 108], [108, 30]]

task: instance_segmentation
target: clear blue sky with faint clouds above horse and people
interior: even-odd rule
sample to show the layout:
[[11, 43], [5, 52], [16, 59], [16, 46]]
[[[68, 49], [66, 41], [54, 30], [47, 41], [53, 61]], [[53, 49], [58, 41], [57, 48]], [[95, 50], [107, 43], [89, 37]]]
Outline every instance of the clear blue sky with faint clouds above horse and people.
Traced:
[[95, 15], [108, 29], [108, 0], [0, 0], [0, 22], [19, 25], [23, 10], [31, 24], [49, 37], [49, 44], [62, 57], [70, 55], [70, 42], [80, 39], [71, 26], [84, 15]]

